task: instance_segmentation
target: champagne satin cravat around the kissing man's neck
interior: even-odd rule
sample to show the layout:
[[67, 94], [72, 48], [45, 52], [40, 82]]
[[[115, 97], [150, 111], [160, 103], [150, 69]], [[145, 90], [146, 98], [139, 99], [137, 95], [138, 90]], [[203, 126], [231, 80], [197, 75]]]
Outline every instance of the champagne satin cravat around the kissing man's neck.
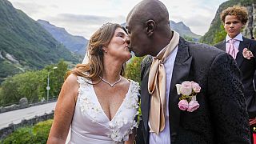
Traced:
[[179, 34], [174, 31], [170, 43], [161, 51], [150, 66], [148, 90], [150, 101], [150, 127], [152, 132], [159, 134], [165, 127], [165, 101], [166, 101], [166, 70], [163, 65], [170, 52], [178, 46]]

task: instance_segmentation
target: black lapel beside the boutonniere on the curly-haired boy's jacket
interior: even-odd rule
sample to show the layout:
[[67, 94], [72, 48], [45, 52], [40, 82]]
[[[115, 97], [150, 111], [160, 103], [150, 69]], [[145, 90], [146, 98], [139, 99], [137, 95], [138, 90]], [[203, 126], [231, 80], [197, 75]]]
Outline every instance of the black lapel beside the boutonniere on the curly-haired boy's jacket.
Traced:
[[239, 51], [238, 51], [237, 57], [235, 58], [235, 60], [237, 61], [239, 67], [242, 65], [242, 62], [244, 60], [244, 58], [242, 56], [242, 50], [244, 48], [249, 49], [248, 46], [250, 46], [250, 41], [248, 41], [247, 38], [242, 37], [242, 39], [243, 39], [243, 41], [241, 41], [240, 44], [239, 44], [239, 47], [238, 47]]

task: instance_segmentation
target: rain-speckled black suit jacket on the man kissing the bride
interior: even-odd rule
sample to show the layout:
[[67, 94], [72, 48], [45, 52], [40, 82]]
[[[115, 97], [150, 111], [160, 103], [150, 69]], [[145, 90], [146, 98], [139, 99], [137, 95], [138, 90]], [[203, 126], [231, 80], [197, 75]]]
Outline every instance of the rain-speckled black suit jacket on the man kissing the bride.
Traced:
[[[149, 143], [150, 94], [147, 90], [152, 57], [142, 62], [141, 110], [137, 143]], [[170, 84], [169, 115], [172, 144], [250, 143], [242, 74], [234, 59], [213, 46], [180, 38]], [[200, 107], [190, 113], [179, 110], [175, 84], [198, 82]]]

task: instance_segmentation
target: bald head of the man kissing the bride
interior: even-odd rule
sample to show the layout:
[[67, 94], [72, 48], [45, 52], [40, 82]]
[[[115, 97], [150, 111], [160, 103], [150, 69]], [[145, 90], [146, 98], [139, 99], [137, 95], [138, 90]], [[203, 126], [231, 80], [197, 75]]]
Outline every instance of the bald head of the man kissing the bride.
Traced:
[[130, 37], [130, 50], [136, 56], [156, 56], [172, 38], [169, 14], [158, 0], [143, 0], [130, 11], [126, 18]]

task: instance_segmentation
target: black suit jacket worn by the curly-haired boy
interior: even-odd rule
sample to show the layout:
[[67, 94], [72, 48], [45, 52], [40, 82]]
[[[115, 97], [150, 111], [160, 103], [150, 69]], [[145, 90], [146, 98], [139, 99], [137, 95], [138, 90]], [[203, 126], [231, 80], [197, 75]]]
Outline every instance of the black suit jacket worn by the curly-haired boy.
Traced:
[[[219, 42], [215, 47], [226, 51], [225, 40]], [[256, 58], [246, 59], [242, 56], [242, 50], [244, 48], [249, 49], [254, 56], [256, 56], [256, 41], [243, 37], [243, 41], [240, 42], [238, 47], [238, 54], [236, 57], [236, 62], [238, 63], [239, 69], [242, 71], [242, 84], [245, 88], [244, 94], [246, 98], [247, 110], [249, 118], [256, 117], [256, 93], [254, 90], [255, 80], [255, 70], [256, 70]], [[254, 80], [254, 82], [253, 82]]]

